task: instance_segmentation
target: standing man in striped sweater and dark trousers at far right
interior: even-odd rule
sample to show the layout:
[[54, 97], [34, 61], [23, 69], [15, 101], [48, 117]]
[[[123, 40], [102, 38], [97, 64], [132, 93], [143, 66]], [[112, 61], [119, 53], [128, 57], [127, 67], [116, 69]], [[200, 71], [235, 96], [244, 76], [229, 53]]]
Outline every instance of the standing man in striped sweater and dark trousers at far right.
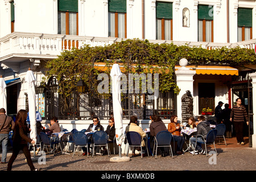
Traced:
[[236, 130], [237, 144], [245, 144], [243, 140], [243, 122], [249, 125], [249, 118], [245, 109], [242, 105], [241, 98], [236, 99], [237, 105], [234, 105], [230, 113], [230, 121], [233, 121], [234, 128]]

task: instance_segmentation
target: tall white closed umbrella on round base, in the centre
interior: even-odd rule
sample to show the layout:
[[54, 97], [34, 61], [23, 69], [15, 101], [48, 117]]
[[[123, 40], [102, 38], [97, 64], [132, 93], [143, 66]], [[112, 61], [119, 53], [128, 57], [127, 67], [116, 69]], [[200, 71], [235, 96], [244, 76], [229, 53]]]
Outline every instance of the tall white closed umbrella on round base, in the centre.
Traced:
[[113, 64], [113, 67], [110, 72], [112, 77], [112, 98], [113, 98], [113, 115], [115, 122], [115, 138], [119, 146], [119, 158], [112, 158], [112, 162], [125, 162], [129, 161], [130, 158], [122, 157], [121, 158], [121, 144], [124, 139], [123, 135], [123, 110], [121, 105], [121, 71], [118, 64]]

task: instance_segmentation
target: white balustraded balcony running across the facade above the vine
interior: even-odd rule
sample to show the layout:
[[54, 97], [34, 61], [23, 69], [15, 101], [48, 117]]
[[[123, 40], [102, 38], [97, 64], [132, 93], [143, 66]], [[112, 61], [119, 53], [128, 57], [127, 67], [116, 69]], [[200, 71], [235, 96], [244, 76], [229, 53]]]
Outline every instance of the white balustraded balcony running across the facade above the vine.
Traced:
[[[23, 62], [28, 59], [55, 59], [64, 49], [82, 47], [84, 44], [90, 46], [106, 46], [114, 42], [120, 42], [121, 38], [60, 35], [60, 34], [39, 34], [27, 32], [13, 32], [0, 39], [0, 61]], [[237, 43], [211, 43], [211, 42], [185, 42], [170, 40], [149, 40], [151, 43], [174, 43], [177, 46], [203, 47], [215, 49], [221, 47], [241, 47], [254, 49], [256, 39], [246, 40]]]

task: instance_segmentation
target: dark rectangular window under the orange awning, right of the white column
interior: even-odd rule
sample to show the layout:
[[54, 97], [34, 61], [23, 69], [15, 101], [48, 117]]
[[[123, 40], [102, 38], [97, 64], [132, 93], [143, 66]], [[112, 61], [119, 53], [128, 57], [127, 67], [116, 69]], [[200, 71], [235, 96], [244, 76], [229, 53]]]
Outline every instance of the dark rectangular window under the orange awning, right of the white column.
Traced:
[[203, 108], [215, 109], [215, 84], [214, 83], [199, 83], [199, 114]]

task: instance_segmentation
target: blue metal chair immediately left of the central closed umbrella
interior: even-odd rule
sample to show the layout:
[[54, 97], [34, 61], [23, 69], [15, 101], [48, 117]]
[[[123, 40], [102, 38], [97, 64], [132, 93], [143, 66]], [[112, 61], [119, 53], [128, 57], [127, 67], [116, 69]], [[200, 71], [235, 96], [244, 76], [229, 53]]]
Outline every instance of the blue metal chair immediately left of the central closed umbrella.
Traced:
[[[108, 155], [109, 155], [109, 147], [108, 147], [108, 134], [106, 131], [95, 131], [92, 135], [92, 147], [93, 147], [93, 156], [95, 152], [95, 147], [97, 146], [106, 146], [108, 150]], [[87, 147], [88, 148], [88, 147]]]

